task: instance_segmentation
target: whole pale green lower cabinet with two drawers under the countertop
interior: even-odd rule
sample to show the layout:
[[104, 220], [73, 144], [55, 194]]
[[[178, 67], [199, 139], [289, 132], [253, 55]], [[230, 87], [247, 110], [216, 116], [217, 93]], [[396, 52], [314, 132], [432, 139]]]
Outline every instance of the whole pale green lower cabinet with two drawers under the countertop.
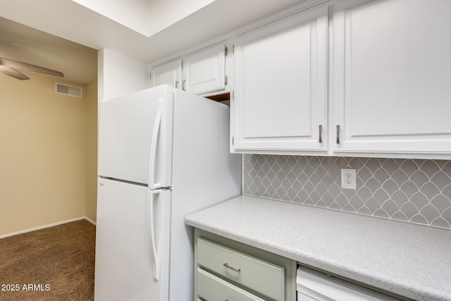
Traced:
[[296, 262], [194, 230], [194, 299], [295, 301]]

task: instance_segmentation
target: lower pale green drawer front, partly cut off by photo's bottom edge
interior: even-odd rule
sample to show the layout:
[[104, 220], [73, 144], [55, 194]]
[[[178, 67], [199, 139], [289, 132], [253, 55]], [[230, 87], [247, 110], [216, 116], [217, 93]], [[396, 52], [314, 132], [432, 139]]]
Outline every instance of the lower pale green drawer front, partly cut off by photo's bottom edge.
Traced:
[[207, 301], [264, 301], [199, 268], [197, 268], [197, 295]]

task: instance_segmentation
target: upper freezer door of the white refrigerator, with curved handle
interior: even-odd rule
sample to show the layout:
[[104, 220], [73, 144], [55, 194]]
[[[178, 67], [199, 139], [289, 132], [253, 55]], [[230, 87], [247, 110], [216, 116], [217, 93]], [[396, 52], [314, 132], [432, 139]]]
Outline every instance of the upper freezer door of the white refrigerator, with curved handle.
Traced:
[[172, 118], [169, 85], [102, 101], [99, 176], [152, 188], [170, 186]]

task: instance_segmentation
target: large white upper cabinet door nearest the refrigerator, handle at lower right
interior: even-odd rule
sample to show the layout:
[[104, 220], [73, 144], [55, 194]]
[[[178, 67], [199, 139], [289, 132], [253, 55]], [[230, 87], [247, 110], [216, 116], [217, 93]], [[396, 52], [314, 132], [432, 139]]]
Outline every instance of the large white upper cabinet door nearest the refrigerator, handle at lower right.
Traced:
[[327, 31], [321, 7], [235, 39], [232, 152], [326, 152]]

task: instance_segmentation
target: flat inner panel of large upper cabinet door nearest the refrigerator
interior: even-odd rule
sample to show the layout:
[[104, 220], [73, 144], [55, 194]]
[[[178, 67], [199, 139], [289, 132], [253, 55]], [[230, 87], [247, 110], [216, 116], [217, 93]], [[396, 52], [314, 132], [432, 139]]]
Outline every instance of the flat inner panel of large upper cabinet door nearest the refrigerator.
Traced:
[[310, 135], [311, 102], [302, 99], [309, 99], [311, 92], [313, 26], [303, 25], [242, 46], [243, 109], [252, 112], [245, 115], [245, 137]]

